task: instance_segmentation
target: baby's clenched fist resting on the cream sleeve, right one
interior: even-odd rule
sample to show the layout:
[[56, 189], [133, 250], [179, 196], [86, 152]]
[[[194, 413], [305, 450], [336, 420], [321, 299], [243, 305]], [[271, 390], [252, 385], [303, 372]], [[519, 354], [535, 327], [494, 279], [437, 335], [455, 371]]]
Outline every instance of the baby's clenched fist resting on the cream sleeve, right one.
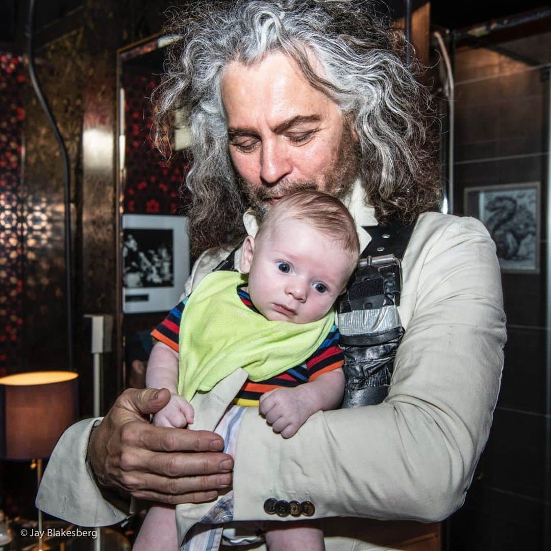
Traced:
[[297, 388], [275, 388], [260, 397], [258, 409], [274, 432], [290, 438], [314, 413], [305, 398]]

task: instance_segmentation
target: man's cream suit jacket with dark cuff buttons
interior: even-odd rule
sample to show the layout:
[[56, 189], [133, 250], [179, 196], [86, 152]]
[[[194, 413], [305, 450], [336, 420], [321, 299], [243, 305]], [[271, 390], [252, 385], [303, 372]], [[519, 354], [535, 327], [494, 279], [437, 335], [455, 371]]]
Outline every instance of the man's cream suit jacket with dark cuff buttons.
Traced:
[[[357, 190], [349, 208], [363, 247], [370, 237], [360, 226], [376, 223], [373, 210]], [[186, 291], [227, 252], [204, 253]], [[377, 406], [318, 412], [287, 440], [249, 408], [235, 456], [235, 521], [274, 520], [263, 510], [268, 498], [309, 500], [314, 518], [330, 517], [323, 521], [328, 550], [427, 549], [398, 542], [418, 541], [434, 527], [404, 521], [438, 521], [463, 504], [488, 439], [503, 366], [495, 247], [477, 220], [424, 213], [402, 266], [398, 310], [406, 332], [387, 398]], [[198, 424], [215, 424], [243, 378], [237, 371], [199, 397], [208, 406], [196, 400]], [[83, 526], [128, 516], [101, 494], [85, 461], [95, 422], [84, 420], [63, 434], [36, 499], [48, 514]], [[180, 534], [189, 511], [177, 507]], [[377, 522], [389, 520], [401, 522]]]

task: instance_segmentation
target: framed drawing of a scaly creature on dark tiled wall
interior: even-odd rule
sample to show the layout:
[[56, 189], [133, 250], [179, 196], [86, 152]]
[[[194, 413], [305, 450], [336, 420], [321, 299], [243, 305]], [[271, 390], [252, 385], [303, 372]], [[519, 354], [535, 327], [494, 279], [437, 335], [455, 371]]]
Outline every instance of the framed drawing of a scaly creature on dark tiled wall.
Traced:
[[495, 241], [504, 273], [539, 273], [539, 182], [468, 187], [464, 212], [478, 218]]

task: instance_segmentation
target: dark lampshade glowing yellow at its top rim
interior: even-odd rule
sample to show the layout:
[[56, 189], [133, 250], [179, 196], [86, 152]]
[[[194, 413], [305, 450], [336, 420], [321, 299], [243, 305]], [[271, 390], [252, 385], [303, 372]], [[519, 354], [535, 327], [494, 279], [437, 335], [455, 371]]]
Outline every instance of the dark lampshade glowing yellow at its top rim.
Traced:
[[50, 457], [77, 416], [72, 371], [37, 371], [0, 378], [0, 458]]

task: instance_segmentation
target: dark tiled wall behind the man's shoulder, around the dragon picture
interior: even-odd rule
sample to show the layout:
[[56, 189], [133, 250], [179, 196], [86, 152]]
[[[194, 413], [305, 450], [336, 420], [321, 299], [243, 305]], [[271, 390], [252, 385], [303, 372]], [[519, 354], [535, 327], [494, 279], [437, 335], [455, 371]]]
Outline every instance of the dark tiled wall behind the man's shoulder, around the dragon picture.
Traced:
[[[458, 48], [455, 204], [468, 187], [541, 182], [545, 228], [546, 108], [541, 66], [551, 62], [551, 33], [488, 47]], [[543, 549], [545, 515], [545, 270], [503, 274], [508, 342], [498, 406], [478, 476], [452, 517], [451, 548]]]

